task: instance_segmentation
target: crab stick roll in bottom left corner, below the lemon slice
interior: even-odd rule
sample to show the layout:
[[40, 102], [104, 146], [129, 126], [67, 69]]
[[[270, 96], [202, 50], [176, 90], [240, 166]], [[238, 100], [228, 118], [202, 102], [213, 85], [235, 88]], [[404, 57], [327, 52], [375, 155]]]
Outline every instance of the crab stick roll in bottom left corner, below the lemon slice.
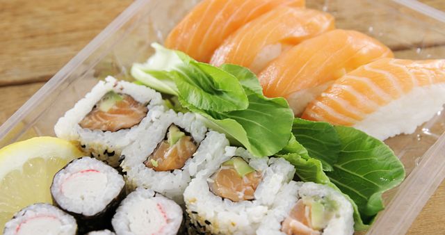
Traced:
[[33, 204], [6, 223], [3, 235], [76, 235], [76, 220], [50, 204]]

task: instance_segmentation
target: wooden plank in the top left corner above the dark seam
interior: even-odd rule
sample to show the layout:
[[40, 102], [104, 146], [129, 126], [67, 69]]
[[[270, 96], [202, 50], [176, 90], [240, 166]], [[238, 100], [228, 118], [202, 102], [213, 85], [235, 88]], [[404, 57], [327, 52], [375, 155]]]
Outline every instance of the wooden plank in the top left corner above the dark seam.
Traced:
[[0, 86], [47, 81], [130, 0], [0, 1]]

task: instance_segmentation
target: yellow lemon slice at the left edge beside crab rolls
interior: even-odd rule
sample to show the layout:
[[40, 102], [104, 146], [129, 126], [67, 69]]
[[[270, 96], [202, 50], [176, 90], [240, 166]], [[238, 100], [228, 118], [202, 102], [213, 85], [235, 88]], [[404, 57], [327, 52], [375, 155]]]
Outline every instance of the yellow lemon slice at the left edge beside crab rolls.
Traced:
[[14, 213], [36, 202], [51, 203], [56, 172], [83, 153], [72, 143], [36, 137], [0, 149], [0, 232]]

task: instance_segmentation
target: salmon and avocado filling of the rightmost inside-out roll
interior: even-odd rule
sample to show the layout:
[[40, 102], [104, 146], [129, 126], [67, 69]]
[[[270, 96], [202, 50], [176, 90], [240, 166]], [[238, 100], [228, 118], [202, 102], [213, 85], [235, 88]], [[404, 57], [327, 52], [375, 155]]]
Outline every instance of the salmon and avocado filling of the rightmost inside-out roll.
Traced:
[[282, 222], [281, 231], [288, 235], [321, 234], [333, 215], [326, 206], [314, 200], [298, 200]]

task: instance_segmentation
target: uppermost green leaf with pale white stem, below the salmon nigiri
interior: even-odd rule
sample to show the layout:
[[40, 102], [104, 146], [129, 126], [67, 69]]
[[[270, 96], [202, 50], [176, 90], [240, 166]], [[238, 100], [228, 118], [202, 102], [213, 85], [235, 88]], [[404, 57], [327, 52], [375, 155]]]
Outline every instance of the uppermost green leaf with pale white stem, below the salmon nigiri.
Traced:
[[[199, 63], [180, 51], [153, 44], [156, 54], [135, 64], [131, 74], [147, 86], [178, 95], [193, 106], [209, 111], [235, 111], [248, 107], [238, 79], [218, 67]], [[170, 62], [171, 61], [171, 62]]]

